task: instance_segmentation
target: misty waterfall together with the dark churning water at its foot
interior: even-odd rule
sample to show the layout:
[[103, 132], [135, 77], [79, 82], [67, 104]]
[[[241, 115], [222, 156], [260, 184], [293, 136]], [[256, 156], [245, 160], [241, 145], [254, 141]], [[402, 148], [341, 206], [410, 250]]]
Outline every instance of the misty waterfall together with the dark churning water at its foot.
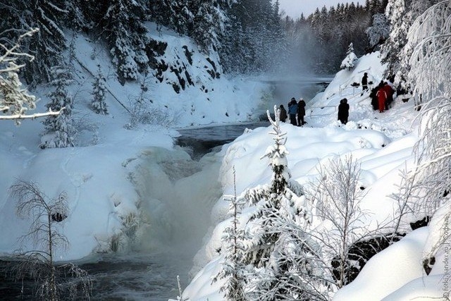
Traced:
[[132, 175], [140, 195], [140, 225], [132, 252], [109, 254], [83, 266], [94, 277], [94, 300], [168, 300], [178, 295], [176, 277], [187, 285], [194, 254], [221, 197], [221, 156], [194, 161], [180, 147], [142, 152]]

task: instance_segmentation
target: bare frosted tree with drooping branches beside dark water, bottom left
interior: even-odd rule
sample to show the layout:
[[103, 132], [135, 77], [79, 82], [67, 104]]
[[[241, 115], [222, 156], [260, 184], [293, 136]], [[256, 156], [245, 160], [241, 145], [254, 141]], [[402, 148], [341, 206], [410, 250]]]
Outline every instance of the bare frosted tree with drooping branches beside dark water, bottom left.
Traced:
[[54, 262], [56, 248], [68, 247], [59, 225], [69, 214], [66, 192], [49, 199], [37, 184], [23, 180], [12, 185], [9, 191], [11, 197], [18, 199], [17, 215], [31, 219], [30, 230], [20, 238], [20, 243], [32, 240], [35, 245], [34, 250], [18, 252], [18, 280], [32, 278], [40, 300], [61, 300], [63, 293], [71, 300], [89, 300], [92, 281], [87, 272], [75, 264]]

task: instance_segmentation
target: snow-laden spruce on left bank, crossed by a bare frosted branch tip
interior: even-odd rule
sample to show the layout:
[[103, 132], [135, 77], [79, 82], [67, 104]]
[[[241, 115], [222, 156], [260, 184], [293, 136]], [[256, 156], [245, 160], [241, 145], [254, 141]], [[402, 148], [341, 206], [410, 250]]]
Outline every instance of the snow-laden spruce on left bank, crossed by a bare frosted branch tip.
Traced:
[[66, 89], [72, 80], [70, 74], [67, 65], [51, 68], [50, 84], [55, 90], [49, 94], [50, 102], [46, 106], [49, 111], [62, 111], [59, 115], [49, 116], [42, 121], [44, 133], [39, 145], [42, 149], [74, 146], [76, 130], [72, 120], [73, 98]]

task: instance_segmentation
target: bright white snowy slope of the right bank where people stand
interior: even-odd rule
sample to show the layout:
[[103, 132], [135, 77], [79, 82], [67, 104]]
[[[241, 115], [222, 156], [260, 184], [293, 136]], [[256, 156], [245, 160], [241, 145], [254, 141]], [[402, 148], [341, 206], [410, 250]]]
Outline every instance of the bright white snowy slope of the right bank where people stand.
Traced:
[[[400, 183], [400, 171], [413, 163], [412, 148], [418, 139], [416, 123], [414, 123], [416, 111], [412, 102], [395, 102], [393, 108], [384, 113], [373, 111], [369, 92], [361, 94], [360, 87], [351, 86], [353, 82], [360, 82], [364, 72], [369, 73], [369, 81], [379, 82], [383, 79], [383, 70], [378, 53], [363, 56], [356, 62], [353, 70], [341, 70], [327, 89], [312, 99], [306, 110], [307, 127], [298, 128], [283, 124], [281, 128], [288, 137], [286, 143], [290, 152], [288, 167], [292, 178], [299, 183], [307, 184], [310, 180], [314, 180], [318, 174], [319, 164], [334, 156], [352, 154], [355, 159], [358, 159], [362, 168], [360, 182], [366, 191], [361, 207], [369, 212], [362, 224], [368, 225], [370, 230], [375, 229], [378, 223], [384, 224], [387, 227], [385, 231], [390, 232], [390, 228], [393, 229], [394, 226], [393, 216], [395, 216], [397, 204], [389, 195], [397, 191], [396, 185]], [[347, 125], [336, 121], [336, 107], [340, 99], [344, 97], [347, 97], [350, 104], [350, 121]], [[225, 194], [233, 192], [233, 166], [236, 169], [238, 193], [246, 188], [271, 181], [271, 170], [267, 159], [260, 159], [266, 147], [273, 144], [268, 135], [269, 130], [270, 128], [258, 128], [223, 147], [221, 175]], [[200, 271], [186, 288], [183, 297], [190, 300], [223, 300], [221, 293], [218, 293], [221, 283], [211, 284], [211, 278], [216, 276], [221, 263], [218, 250], [222, 247], [223, 229], [230, 222], [227, 212], [227, 202], [219, 200], [212, 213], [212, 219], [216, 221], [217, 226], [208, 235], [209, 241], [194, 259], [192, 272], [196, 273], [199, 269]], [[409, 219], [414, 221], [416, 217], [410, 216]], [[409, 225], [403, 224], [401, 228], [402, 231], [409, 231]], [[418, 241], [416, 245], [406, 243], [408, 238], [395, 243], [401, 251], [390, 252], [386, 257], [381, 254], [379, 258], [382, 259], [375, 259], [378, 262], [374, 265], [369, 264], [366, 268], [369, 271], [366, 273], [378, 274], [377, 269], [390, 265], [390, 261], [396, 260], [399, 254], [407, 257], [416, 254], [414, 258], [418, 258], [427, 237], [427, 230], [422, 230], [421, 233], [423, 234], [412, 236]], [[404, 250], [406, 246], [412, 250]], [[366, 287], [355, 285], [357, 288], [362, 288], [357, 295], [340, 292], [344, 297], [339, 300], [369, 300], [362, 296], [371, 295], [372, 290], [380, 290], [381, 296], [388, 295], [408, 281], [419, 277], [418, 262], [415, 259], [406, 259], [404, 265], [409, 264], [414, 266], [407, 266], [402, 270], [404, 277], [391, 277], [392, 285], [386, 286], [385, 290], [371, 285], [373, 279], [364, 278], [362, 283], [368, 284]], [[396, 266], [393, 267], [393, 271], [395, 269], [397, 269]], [[379, 275], [383, 273], [385, 271], [381, 271]], [[379, 281], [382, 280], [379, 279]], [[354, 292], [355, 289], [349, 288], [349, 291]], [[380, 299], [376, 297], [374, 300]]]

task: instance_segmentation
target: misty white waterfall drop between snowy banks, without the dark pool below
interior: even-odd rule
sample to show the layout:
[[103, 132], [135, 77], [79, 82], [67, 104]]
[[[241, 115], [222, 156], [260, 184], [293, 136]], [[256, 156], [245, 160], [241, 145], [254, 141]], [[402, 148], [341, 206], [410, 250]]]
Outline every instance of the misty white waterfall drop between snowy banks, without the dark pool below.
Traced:
[[140, 211], [148, 222], [140, 248], [194, 254], [210, 226], [212, 206], [221, 197], [221, 158], [206, 154], [193, 161], [182, 149], [153, 147], [138, 168]]

